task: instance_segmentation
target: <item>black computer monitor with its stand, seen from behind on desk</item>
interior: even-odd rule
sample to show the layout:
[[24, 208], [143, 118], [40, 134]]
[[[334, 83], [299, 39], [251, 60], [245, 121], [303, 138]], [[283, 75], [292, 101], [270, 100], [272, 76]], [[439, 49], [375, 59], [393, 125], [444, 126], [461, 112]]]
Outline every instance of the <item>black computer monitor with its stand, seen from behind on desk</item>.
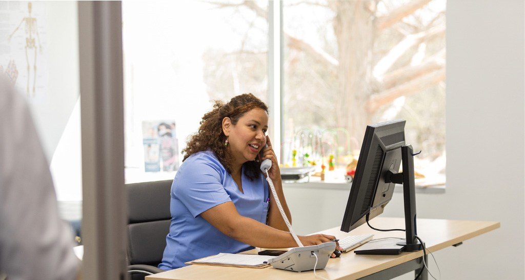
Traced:
[[[392, 199], [394, 186], [398, 183], [403, 184], [406, 241], [394, 240], [397, 245], [386, 244], [381, 248], [355, 250], [357, 254], [399, 254], [422, 248], [415, 237], [414, 154], [412, 147], [405, 144], [404, 129], [404, 120], [381, 122], [366, 127], [341, 231], [350, 232], [383, 213], [386, 204]], [[403, 173], [399, 173], [402, 164]]]

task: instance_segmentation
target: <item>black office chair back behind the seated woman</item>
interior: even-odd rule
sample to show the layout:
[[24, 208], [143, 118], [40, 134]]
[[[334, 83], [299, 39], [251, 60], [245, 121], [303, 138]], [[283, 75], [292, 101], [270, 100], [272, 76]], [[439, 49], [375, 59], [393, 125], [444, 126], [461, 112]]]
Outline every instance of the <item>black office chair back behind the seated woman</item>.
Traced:
[[170, 231], [173, 180], [126, 184], [128, 191], [128, 273], [131, 280], [163, 272], [166, 235]]

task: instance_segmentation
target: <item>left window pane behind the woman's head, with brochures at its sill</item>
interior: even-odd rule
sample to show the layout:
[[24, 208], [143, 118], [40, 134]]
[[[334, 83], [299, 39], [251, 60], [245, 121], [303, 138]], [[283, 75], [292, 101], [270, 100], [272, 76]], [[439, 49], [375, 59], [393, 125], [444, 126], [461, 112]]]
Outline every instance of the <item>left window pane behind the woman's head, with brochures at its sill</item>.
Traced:
[[173, 179], [213, 100], [267, 100], [267, 6], [122, 3], [127, 182]]

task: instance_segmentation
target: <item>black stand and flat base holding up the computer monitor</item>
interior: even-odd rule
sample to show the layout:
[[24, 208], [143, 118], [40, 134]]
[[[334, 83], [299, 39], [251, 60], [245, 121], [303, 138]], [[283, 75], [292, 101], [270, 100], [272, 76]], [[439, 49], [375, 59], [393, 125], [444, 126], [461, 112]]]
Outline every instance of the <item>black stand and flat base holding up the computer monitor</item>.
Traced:
[[[415, 237], [416, 230], [416, 191], [414, 182], [414, 153], [412, 146], [401, 147], [403, 172], [388, 171], [386, 180], [392, 183], [403, 184], [403, 200], [405, 204], [405, 230], [406, 240], [398, 239], [369, 241], [355, 250], [360, 255], [398, 255], [401, 252], [415, 252], [423, 249], [422, 244]], [[369, 216], [366, 216], [368, 222]], [[366, 245], [366, 246], [365, 246]]]

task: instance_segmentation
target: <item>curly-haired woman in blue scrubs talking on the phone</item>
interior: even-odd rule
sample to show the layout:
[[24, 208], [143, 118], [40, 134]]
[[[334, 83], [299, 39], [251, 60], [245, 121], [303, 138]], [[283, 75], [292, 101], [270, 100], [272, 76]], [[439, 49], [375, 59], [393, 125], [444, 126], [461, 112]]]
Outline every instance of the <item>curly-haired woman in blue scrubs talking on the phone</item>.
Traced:
[[[254, 247], [297, 247], [259, 169], [260, 161], [271, 159], [268, 174], [291, 221], [267, 130], [268, 107], [251, 94], [225, 104], [216, 101], [204, 115], [173, 180], [170, 233], [159, 268], [170, 270], [197, 258]], [[299, 239], [308, 246], [335, 237]]]

